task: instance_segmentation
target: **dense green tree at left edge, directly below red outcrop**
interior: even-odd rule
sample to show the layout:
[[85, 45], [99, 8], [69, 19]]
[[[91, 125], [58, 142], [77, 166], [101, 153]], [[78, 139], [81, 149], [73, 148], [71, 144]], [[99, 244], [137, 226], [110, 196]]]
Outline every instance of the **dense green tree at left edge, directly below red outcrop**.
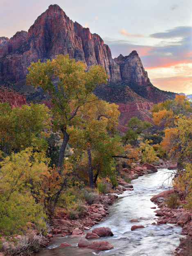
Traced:
[[32, 145], [45, 151], [49, 130], [49, 109], [44, 104], [11, 109], [8, 103], [0, 103], [0, 147], [5, 155]]

